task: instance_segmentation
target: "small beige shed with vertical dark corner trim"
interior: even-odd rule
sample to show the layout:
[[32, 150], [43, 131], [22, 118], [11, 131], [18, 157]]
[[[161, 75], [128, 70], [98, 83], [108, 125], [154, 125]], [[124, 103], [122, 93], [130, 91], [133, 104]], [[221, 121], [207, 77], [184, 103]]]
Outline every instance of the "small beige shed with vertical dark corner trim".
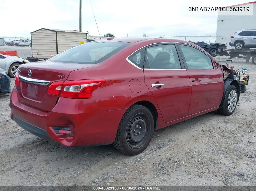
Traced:
[[35, 58], [50, 58], [81, 42], [87, 42], [87, 33], [75, 30], [59, 30], [41, 28], [30, 33], [32, 40], [32, 56]]

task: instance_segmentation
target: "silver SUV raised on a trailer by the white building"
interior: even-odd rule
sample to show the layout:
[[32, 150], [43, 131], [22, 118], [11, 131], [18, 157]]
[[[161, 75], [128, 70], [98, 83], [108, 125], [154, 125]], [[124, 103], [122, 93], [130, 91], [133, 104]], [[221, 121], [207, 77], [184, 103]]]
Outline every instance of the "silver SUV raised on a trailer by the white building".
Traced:
[[241, 30], [230, 36], [230, 46], [241, 50], [243, 48], [256, 48], [256, 30]]

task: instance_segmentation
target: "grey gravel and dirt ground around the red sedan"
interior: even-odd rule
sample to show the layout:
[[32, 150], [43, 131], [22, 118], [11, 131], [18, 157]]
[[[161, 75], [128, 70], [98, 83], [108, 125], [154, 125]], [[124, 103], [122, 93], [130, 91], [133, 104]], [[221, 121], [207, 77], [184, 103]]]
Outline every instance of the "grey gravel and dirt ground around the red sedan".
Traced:
[[211, 112], [161, 129], [133, 157], [112, 145], [67, 148], [41, 140], [9, 118], [10, 95], [0, 97], [0, 185], [256, 185], [256, 157], [243, 156], [256, 155], [256, 65], [232, 65], [250, 75], [233, 115]]

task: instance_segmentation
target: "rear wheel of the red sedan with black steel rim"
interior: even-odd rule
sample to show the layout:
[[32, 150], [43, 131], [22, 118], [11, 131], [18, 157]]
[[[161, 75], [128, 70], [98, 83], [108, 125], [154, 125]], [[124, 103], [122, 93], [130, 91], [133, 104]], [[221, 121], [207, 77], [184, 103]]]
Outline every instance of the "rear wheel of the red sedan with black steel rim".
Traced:
[[152, 113], [142, 105], [133, 105], [122, 117], [113, 145], [124, 154], [139, 154], [147, 148], [153, 131]]

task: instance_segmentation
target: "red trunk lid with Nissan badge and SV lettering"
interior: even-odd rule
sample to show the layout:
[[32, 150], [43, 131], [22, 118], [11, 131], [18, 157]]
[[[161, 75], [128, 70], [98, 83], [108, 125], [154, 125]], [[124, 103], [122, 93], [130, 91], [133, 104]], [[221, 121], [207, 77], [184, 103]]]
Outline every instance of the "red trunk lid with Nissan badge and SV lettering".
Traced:
[[55, 81], [65, 81], [74, 70], [94, 65], [49, 61], [22, 64], [18, 68], [19, 86], [16, 86], [18, 100], [36, 109], [51, 111], [58, 96], [47, 94], [49, 85]]

